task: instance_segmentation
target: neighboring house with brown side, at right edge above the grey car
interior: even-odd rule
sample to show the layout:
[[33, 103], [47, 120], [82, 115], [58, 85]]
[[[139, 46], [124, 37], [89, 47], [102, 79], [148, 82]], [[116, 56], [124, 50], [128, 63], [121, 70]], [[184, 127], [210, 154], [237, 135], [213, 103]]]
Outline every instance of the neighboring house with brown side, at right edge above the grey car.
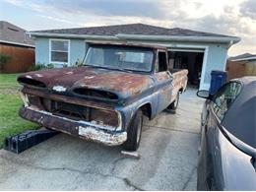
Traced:
[[226, 62], [228, 79], [256, 76], [256, 54], [244, 53], [229, 57]]

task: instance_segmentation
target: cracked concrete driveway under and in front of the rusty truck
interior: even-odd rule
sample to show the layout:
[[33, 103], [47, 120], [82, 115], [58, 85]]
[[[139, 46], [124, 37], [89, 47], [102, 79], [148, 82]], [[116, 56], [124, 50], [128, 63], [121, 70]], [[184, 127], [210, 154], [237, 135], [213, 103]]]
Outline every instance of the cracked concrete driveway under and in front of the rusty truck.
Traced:
[[189, 89], [176, 114], [145, 119], [140, 160], [59, 134], [20, 155], [0, 151], [1, 190], [196, 190], [203, 100]]

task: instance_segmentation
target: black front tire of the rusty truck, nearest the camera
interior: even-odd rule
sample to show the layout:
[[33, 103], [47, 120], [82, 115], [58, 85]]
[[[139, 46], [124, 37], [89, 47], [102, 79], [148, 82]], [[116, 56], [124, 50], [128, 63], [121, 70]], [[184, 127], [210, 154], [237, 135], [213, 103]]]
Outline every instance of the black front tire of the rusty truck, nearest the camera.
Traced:
[[143, 113], [139, 109], [134, 115], [128, 129], [127, 140], [123, 144], [123, 148], [127, 151], [136, 151], [140, 146], [143, 126]]

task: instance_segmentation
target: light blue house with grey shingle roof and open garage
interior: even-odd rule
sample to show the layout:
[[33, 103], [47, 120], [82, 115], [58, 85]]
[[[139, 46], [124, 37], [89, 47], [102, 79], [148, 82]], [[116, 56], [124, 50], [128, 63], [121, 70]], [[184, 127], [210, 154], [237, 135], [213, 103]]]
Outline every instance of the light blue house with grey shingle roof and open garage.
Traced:
[[189, 70], [190, 84], [210, 87], [211, 71], [224, 70], [227, 49], [240, 40], [236, 36], [185, 29], [166, 29], [145, 24], [103, 26], [29, 32], [35, 37], [35, 62], [64, 63], [83, 60], [92, 41], [151, 43], [168, 47], [173, 68]]

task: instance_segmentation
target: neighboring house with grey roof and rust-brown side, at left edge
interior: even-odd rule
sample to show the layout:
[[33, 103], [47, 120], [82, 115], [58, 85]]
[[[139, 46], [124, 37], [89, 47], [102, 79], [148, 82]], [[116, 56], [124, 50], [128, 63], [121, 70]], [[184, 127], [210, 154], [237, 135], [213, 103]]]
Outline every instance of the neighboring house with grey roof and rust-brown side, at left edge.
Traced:
[[10, 59], [0, 72], [25, 72], [34, 63], [34, 41], [24, 29], [0, 21], [0, 54]]

